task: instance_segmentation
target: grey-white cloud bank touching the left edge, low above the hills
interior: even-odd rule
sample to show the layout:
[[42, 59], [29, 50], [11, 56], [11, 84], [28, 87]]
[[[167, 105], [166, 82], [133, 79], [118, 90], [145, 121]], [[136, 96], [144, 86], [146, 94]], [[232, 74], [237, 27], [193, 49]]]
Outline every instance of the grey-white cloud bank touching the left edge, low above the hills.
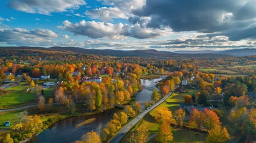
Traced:
[[0, 42], [13, 45], [51, 45], [57, 34], [48, 29], [0, 29]]

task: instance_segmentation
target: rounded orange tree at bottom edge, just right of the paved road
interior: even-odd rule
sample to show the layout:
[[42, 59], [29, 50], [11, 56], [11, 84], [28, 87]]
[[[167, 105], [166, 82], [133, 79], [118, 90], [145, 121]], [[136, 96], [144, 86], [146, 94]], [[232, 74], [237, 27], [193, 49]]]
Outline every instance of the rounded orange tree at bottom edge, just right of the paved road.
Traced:
[[168, 122], [163, 122], [158, 128], [158, 135], [156, 136], [156, 141], [158, 142], [170, 142], [172, 141], [172, 128]]

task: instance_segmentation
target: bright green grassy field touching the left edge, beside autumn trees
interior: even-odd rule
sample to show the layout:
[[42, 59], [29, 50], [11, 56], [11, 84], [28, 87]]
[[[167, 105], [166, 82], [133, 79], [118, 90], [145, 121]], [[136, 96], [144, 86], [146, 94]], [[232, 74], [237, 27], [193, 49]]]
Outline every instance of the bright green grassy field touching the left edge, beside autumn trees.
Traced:
[[0, 109], [1, 108], [14, 108], [20, 105], [26, 105], [35, 100], [35, 94], [33, 92], [24, 92], [26, 86], [13, 86], [7, 90], [14, 90], [7, 95], [0, 97]]

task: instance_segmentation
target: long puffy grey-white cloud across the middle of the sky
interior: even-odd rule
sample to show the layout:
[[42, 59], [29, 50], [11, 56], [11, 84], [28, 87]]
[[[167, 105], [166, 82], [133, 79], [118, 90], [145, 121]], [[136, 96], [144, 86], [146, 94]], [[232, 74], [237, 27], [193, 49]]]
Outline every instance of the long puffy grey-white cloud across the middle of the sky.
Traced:
[[71, 23], [68, 20], [63, 21], [64, 26], [58, 26], [59, 29], [67, 30], [75, 35], [88, 36], [89, 38], [109, 38], [124, 39], [131, 36], [138, 39], [155, 38], [164, 35], [161, 30], [144, 28], [138, 25], [129, 26], [128, 24], [112, 24], [95, 21], [82, 20], [79, 23]]

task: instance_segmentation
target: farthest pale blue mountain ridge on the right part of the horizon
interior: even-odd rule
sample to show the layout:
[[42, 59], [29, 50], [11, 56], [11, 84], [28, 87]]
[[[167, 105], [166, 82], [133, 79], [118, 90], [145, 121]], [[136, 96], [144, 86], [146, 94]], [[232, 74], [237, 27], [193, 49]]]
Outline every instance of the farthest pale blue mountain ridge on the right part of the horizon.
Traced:
[[178, 54], [227, 54], [233, 56], [247, 56], [247, 55], [256, 55], [256, 49], [230, 49], [226, 51], [175, 51], [174, 53]]

